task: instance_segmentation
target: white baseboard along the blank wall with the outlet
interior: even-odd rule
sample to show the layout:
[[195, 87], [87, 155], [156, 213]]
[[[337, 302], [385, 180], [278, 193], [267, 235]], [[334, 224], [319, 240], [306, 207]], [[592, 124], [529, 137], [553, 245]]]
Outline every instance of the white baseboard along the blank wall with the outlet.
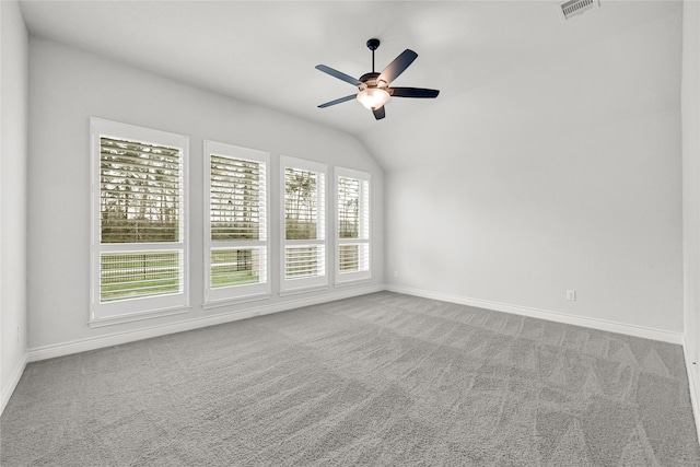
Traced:
[[672, 332], [662, 329], [646, 328], [642, 326], [628, 325], [623, 323], [610, 322], [607, 319], [588, 318], [584, 316], [568, 315], [548, 310], [533, 308], [529, 306], [512, 305], [510, 303], [491, 302], [468, 296], [452, 295], [447, 293], [430, 292], [427, 290], [413, 289], [401, 285], [387, 284], [389, 292], [405, 293], [407, 295], [422, 296], [424, 299], [440, 300], [443, 302], [458, 303], [460, 305], [476, 306], [478, 308], [493, 310], [495, 312], [513, 313], [515, 315], [529, 316], [532, 318], [547, 319], [550, 322], [564, 323], [568, 325], [582, 326], [593, 329], [606, 330], [609, 332], [625, 334], [628, 336], [642, 337], [645, 339], [661, 340], [663, 342], [682, 343], [681, 332]]

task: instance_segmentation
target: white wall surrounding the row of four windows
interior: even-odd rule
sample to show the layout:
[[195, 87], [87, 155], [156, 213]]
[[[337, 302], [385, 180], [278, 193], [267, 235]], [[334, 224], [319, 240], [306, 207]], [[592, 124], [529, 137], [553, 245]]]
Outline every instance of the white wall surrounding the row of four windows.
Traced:
[[[210, 71], [217, 72], [215, 63], [211, 65]], [[192, 310], [186, 315], [94, 329], [88, 327], [89, 118], [92, 116], [190, 137]], [[30, 358], [33, 351], [46, 347], [65, 345], [65, 351], [82, 350], [85, 346], [71, 347], [70, 342], [88, 342], [116, 332], [127, 332], [126, 339], [128, 336], [143, 337], [148, 334], [139, 334], [139, 330], [144, 328], [189, 323], [189, 319], [252, 306], [201, 308], [205, 139], [269, 151], [272, 173], [276, 173], [280, 154], [370, 172], [375, 246], [372, 284], [378, 288], [383, 283], [383, 174], [353, 137], [34, 36], [30, 40]], [[275, 208], [279, 191], [276, 186], [272, 189]], [[279, 254], [279, 218], [273, 213], [271, 219], [270, 242], [276, 258]], [[272, 267], [273, 290], [279, 290], [276, 262]], [[338, 291], [352, 293], [353, 289], [343, 287]], [[275, 294], [268, 303], [292, 306], [295, 300], [331, 297], [332, 293], [330, 289], [291, 297]], [[102, 345], [104, 342], [107, 341], [103, 340]]]

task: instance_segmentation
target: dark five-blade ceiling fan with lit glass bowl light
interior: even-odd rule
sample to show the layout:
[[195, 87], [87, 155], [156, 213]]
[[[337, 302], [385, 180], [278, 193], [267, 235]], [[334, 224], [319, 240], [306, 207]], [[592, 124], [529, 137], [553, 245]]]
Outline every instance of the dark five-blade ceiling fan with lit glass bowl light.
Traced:
[[360, 79], [354, 79], [349, 74], [342, 73], [338, 70], [334, 70], [325, 65], [317, 65], [316, 70], [328, 73], [339, 80], [358, 86], [359, 92], [357, 94], [350, 94], [345, 97], [337, 98], [335, 101], [320, 104], [318, 108], [330, 107], [331, 105], [340, 104], [347, 101], [357, 98], [368, 109], [372, 110], [374, 118], [377, 120], [386, 116], [384, 110], [384, 104], [388, 102], [390, 97], [420, 97], [420, 98], [434, 98], [440, 93], [439, 90], [428, 90], [424, 87], [389, 87], [392, 81], [398, 78], [406, 69], [418, 58], [411, 49], [404, 50], [398, 57], [392, 61], [388, 67], [381, 73], [374, 71], [374, 50], [380, 47], [380, 39], [368, 40], [368, 48], [372, 50], [372, 72], [365, 73]]

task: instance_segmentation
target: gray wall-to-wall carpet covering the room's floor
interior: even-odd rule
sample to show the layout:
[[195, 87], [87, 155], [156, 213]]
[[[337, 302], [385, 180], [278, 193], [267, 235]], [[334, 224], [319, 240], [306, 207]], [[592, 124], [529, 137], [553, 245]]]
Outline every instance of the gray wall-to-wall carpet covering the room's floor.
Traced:
[[32, 363], [2, 466], [698, 466], [679, 346], [389, 292]]

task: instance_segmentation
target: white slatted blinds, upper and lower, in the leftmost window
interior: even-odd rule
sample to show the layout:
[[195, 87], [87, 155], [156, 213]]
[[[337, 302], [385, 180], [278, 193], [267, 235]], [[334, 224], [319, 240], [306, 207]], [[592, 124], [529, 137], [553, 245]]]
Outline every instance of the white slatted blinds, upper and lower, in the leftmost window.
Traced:
[[[182, 236], [180, 150], [100, 138], [100, 225], [103, 244], [178, 242]], [[102, 253], [101, 302], [178, 293], [180, 252]]]

